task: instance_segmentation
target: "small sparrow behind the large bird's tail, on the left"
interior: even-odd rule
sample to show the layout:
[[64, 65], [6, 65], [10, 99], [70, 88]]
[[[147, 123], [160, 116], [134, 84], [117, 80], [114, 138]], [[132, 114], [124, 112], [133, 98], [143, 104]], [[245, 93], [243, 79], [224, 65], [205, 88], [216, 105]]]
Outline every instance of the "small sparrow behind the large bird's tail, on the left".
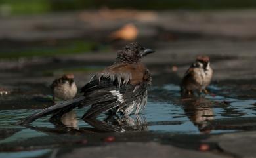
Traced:
[[74, 81], [74, 75], [68, 74], [55, 79], [51, 85], [53, 91], [53, 102], [58, 98], [60, 100], [70, 100], [77, 94], [77, 87]]

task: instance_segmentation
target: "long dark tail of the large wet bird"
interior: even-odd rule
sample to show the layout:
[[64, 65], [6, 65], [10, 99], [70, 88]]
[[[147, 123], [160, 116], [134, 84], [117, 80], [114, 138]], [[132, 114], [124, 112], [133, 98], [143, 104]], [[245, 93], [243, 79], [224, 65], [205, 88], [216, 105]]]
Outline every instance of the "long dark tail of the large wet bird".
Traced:
[[34, 113], [33, 115], [30, 115], [30, 116], [18, 121], [16, 123], [16, 125], [28, 125], [29, 123], [35, 121], [36, 119], [39, 119], [40, 117], [44, 117], [46, 115], [50, 115], [52, 113], [56, 113], [56, 112], [62, 111], [64, 109], [73, 109], [73, 108], [79, 106], [79, 104], [81, 102], [83, 102], [84, 99], [85, 99], [84, 96], [80, 96], [79, 98], [75, 98], [72, 100], [61, 102], [59, 104], [55, 104], [53, 106], [42, 109], [41, 111]]

